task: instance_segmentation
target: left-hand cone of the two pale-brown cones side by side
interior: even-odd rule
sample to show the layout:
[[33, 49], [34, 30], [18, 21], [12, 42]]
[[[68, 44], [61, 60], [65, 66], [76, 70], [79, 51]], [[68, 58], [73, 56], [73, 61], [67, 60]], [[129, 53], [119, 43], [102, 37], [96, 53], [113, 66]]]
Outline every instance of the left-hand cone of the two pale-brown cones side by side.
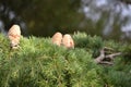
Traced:
[[60, 46], [61, 45], [61, 40], [62, 40], [62, 34], [61, 33], [56, 33], [52, 38], [52, 44], [57, 45], [57, 46]]

